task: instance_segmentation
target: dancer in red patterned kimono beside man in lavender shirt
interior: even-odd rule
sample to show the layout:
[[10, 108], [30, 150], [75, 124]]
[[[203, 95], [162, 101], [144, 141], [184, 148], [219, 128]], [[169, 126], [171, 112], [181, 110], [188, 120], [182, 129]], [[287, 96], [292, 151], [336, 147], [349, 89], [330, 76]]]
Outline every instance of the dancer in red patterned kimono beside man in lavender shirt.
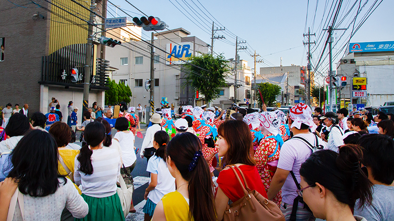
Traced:
[[[260, 144], [255, 153], [256, 167], [262, 178], [265, 191], [268, 191], [271, 184], [272, 177], [278, 165], [280, 147], [283, 145], [283, 139], [279, 133], [280, 120], [274, 112], [262, 112], [259, 114], [259, 120], [263, 131], [268, 133], [260, 141]], [[266, 133], [266, 132], [264, 132]], [[273, 198], [278, 206], [282, 201], [282, 193], [279, 192]]]

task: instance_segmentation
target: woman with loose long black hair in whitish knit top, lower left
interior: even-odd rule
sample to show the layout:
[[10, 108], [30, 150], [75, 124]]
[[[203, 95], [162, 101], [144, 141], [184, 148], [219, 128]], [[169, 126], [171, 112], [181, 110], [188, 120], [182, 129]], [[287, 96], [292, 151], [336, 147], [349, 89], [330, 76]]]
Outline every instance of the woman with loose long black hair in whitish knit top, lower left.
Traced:
[[64, 208], [75, 218], [88, 214], [88, 204], [72, 182], [58, 174], [58, 155], [55, 139], [40, 130], [31, 131], [16, 145], [8, 177], [18, 180], [24, 209], [20, 203], [10, 205], [15, 206], [13, 221], [59, 221]]

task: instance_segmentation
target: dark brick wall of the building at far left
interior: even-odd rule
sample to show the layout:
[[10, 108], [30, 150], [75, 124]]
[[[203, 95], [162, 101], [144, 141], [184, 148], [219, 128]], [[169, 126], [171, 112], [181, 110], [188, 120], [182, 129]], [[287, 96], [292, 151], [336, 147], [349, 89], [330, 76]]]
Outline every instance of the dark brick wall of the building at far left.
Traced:
[[[18, 1], [22, 2], [22, 1]], [[25, 1], [25, 3], [28, 1]], [[45, 1], [38, 1], [47, 7]], [[17, 2], [15, 2], [17, 3]], [[41, 60], [46, 55], [49, 34], [47, 11], [34, 4], [15, 7], [0, 1], [0, 38], [4, 37], [4, 61], [0, 62], [0, 106], [29, 104], [30, 113], [39, 111]], [[33, 20], [36, 12], [45, 16]]]

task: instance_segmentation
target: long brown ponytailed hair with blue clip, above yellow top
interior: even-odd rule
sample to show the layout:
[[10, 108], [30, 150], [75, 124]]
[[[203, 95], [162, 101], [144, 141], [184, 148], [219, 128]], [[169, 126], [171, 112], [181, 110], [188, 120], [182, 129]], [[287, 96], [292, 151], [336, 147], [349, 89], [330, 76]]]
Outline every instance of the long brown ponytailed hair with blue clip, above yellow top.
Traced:
[[201, 141], [194, 134], [181, 133], [169, 141], [165, 157], [171, 157], [182, 178], [189, 182], [189, 219], [215, 221], [212, 179], [201, 149]]

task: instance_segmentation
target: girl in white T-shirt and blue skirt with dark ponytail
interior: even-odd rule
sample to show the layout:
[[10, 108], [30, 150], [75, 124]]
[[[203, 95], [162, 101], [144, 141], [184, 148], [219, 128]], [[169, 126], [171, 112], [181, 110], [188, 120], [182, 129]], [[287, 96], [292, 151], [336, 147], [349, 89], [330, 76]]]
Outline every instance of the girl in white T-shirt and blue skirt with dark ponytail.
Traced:
[[144, 198], [146, 204], [143, 208], [145, 221], [152, 219], [155, 208], [160, 199], [167, 193], [175, 191], [175, 178], [171, 176], [164, 160], [165, 147], [169, 136], [165, 131], [158, 131], [153, 138], [153, 147], [156, 149], [154, 156], [149, 158], [146, 171], [151, 174], [151, 180], [146, 188]]

